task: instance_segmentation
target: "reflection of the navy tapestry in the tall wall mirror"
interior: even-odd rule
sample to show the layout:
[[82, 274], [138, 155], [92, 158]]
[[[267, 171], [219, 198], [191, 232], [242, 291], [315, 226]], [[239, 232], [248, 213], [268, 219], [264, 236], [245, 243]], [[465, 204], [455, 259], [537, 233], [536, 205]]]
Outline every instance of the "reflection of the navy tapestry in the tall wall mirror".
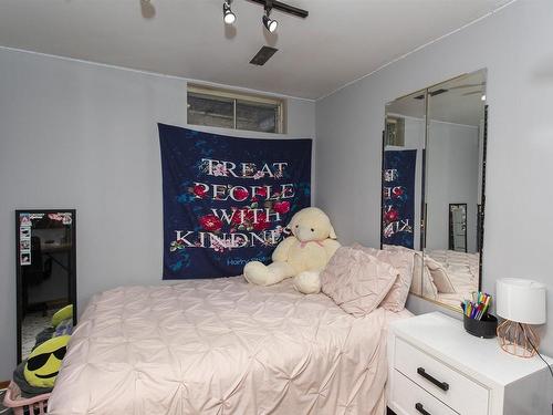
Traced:
[[414, 247], [416, 164], [416, 149], [384, 152], [384, 245]]

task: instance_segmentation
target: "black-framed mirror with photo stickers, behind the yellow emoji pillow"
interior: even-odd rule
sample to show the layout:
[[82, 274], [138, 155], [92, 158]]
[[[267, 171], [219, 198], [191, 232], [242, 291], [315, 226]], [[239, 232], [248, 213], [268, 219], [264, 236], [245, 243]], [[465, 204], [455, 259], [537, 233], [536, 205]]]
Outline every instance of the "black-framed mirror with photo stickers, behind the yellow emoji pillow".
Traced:
[[76, 322], [75, 210], [15, 210], [15, 238], [19, 363]]

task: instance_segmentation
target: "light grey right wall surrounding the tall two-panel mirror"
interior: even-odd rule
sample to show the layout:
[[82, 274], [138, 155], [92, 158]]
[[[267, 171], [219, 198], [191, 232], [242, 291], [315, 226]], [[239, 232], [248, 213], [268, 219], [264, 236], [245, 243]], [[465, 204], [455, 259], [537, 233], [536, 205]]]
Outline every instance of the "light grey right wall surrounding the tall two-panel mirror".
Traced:
[[[519, 0], [321, 100], [316, 204], [344, 243], [379, 243], [380, 139], [385, 104], [488, 68], [490, 104], [483, 289], [502, 277], [547, 284], [553, 324], [553, 2]], [[406, 34], [407, 35], [407, 34]], [[409, 309], [435, 305], [417, 298]], [[553, 355], [553, 330], [544, 329]]]

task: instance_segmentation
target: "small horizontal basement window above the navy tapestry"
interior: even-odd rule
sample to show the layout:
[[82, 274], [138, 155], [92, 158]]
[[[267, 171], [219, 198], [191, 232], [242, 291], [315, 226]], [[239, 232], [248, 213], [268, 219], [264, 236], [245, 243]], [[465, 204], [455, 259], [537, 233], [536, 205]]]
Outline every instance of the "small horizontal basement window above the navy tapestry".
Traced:
[[188, 85], [188, 124], [285, 133], [284, 100]]

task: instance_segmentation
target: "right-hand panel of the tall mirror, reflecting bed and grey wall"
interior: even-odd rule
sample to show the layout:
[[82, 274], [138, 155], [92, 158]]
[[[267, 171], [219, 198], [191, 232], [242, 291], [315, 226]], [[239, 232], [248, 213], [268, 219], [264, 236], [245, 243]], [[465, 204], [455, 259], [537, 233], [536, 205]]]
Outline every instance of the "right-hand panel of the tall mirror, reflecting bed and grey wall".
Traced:
[[484, 106], [484, 71], [428, 90], [425, 282], [452, 308], [480, 287]]

